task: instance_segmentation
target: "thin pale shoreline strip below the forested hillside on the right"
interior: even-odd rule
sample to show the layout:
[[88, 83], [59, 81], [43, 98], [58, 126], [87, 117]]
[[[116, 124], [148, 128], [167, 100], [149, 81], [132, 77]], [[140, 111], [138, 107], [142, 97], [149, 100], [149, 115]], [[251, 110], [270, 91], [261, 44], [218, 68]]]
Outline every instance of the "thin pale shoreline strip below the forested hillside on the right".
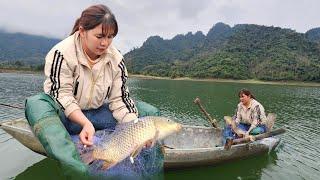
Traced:
[[320, 83], [317, 82], [301, 82], [301, 81], [261, 81], [256, 79], [246, 80], [235, 80], [235, 79], [214, 79], [214, 78], [203, 78], [196, 79], [190, 77], [174, 78], [170, 77], [158, 77], [140, 74], [129, 74], [129, 77], [140, 78], [140, 79], [164, 79], [173, 81], [206, 81], [206, 82], [230, 82], [230, 83], [246, 83], [246, 84], [272, 84], [272, 85], [286, 85], [286, 86], [311, 86], [320, 87]]

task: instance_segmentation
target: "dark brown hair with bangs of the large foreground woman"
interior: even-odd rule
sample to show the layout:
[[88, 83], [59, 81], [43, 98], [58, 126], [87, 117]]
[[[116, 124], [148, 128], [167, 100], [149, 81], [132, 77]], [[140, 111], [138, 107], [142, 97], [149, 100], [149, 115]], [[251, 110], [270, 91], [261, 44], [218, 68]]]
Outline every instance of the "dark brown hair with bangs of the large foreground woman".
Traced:
[[110, 29], [114, 30], [113, 36], [118, 33], [118, 23], [111, 10], [103, 5], [93, 5], [82, 11], [80, 18], [78, 18], [72, 28], [70, 35], [74, 34], [82, 26], [84, 30], [94, 29], [99, 24], [102, 24], [102, 33], [108, 34]]

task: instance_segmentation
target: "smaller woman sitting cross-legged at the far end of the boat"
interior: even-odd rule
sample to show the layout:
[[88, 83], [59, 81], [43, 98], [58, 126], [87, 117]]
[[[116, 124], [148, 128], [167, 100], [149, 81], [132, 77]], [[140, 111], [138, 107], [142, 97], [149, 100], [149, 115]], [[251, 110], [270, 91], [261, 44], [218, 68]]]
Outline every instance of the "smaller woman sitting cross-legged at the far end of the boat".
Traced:
[[264, 107], [247, 89], [238, 93], [240, 103], [231, 121], [225, 117], [227, 127], [224, 130], [226, 139], [265, 133], [267, 120]]

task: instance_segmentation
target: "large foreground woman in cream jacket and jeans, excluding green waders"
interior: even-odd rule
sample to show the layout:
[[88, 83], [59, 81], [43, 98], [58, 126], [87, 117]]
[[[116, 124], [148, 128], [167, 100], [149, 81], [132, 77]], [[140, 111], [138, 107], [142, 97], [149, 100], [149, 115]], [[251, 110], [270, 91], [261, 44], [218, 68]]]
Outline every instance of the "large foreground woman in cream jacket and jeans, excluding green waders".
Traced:
[[84, 145], [92, 145], [95, 130], [138, 118], [123, 56], [112, 44], [117, 33], [109, 8], [91, 6], [46, 56], [44, 92], [60, 103], [63, 124], [70, 134], [80, 133]]

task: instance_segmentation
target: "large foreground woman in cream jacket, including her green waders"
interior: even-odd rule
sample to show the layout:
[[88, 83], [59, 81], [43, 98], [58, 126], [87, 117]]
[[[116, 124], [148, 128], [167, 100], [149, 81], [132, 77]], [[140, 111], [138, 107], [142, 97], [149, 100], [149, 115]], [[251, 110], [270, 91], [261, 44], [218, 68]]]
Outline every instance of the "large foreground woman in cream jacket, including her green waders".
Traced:
[[[49, 157], [85, 173], [87, 167], [79, 161], [69, 134], [79, 134], [86, 147], [93, 145], [96, 130], [114, 130], [117, 124], [138, 120], [123, 56], [112, 43], [117, 33], [118, 23], [107, 6], [85, 9], [70, 36], [46, 56], [44, 93], [26, 100], [28, 122]], [[148, 108], [143, 105], [141, 111]], [[151, 143], [146, 146], [148, 152], [156, 150]]]

